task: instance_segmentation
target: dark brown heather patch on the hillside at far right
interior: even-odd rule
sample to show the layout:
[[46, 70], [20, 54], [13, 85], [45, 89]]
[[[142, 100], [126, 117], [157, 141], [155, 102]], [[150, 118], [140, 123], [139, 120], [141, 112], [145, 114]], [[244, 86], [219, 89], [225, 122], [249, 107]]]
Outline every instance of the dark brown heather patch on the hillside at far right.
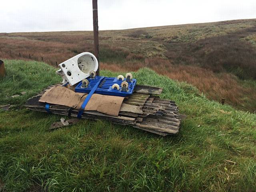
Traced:
[[[165, 43], [166, 57], [175, 64], [202, 66], [213, 72], [232, 72], [242, 79], [256, 79], [256, 48], [253, 37], [256, 25], [230, 34], [200, 39], [196, 42]], [[252, 38], [251, 41], [242, 39]]]

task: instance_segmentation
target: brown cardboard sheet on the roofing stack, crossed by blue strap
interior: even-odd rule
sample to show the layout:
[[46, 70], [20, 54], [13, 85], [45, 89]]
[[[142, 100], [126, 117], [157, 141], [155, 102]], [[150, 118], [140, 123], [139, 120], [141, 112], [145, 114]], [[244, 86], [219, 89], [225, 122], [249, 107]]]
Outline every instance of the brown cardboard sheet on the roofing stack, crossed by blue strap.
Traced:
[[[76, 93], [63, 86], [54, 86], [47, 90], [39, 101], [80, 109], [85, 98], [86, 94], [84, 93]], [[93, 94], [85, 110], [118, 116], [123, 100], [123, 97]]]

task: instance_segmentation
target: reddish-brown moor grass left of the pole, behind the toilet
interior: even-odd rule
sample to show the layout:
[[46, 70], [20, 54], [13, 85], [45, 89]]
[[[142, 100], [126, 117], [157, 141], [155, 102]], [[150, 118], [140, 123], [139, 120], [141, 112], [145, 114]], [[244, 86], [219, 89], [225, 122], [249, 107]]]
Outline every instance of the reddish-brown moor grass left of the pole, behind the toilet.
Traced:
[[[3, 58], [19, 58], [20, 53], [22, 58], [29, 59], [30, 55], [32, 60], [41, 60], [43, 57], [44, 62], [52, 65], [55, 65], [56, 62], [61, 63], [82, 52], [82, 43], [71, 44], [10, 37], [0, 38], [0, 42]], [[83, 44], [83, 46], [89, 51], [93, 50], [92, 44]]]

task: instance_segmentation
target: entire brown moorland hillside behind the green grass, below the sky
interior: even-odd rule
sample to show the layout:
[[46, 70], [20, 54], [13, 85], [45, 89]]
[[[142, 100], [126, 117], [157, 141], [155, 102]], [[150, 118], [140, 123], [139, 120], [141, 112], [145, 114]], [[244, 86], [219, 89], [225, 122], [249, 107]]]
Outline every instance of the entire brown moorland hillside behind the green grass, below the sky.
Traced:
[[[256, 19], [100, 31], [102, 68], [158, 74], [188, 82], [210, 99], [225, 98], [236, 108], [256, 110]], [[93, 52], [93, 33], [0, 34], [0, 58], [52, 64]], [[11, 52], [10, 52], [11, 50]], [[20, 53], [20, 56], [19, 56]]]

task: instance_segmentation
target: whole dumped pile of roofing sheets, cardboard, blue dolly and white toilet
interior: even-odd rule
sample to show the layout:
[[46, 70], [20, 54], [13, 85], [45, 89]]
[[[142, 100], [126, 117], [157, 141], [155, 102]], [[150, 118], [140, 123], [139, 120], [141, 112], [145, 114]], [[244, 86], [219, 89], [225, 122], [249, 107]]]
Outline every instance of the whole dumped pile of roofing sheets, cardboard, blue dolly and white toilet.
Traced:
[[85, 119], [106, 119], [162, 136], [178, 133], [182, 115], [175, 102], [159, 98], [162, 88], [138, 85], [130, 73], [126, 78], [96, 76], [98, 61], [88, 53], [59, 66], [61, 70], [57, 73], [63, 78], [62, 84], [49, 86], [30, 98], [26, 108]]

